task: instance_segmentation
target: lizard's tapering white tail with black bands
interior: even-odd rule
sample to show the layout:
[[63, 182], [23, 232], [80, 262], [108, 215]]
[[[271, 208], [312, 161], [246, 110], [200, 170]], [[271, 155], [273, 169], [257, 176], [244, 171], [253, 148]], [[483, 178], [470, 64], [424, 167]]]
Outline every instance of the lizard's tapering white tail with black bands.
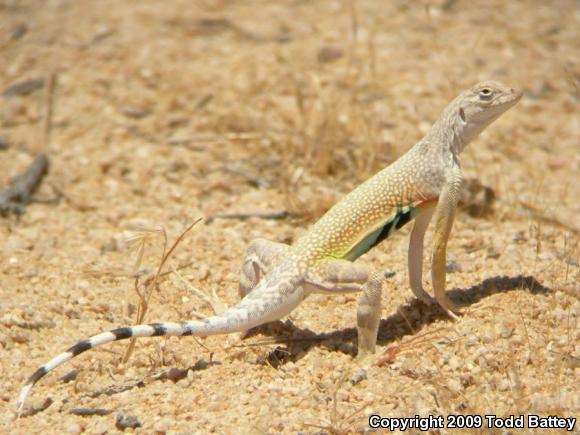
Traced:
[[[97, 346], [103, 344], [111, 343], [118, 340], [126, 340], [133, 337], [161, 337], [161, 336], [185, 336], [185, 335], [196, 335], [196, 336], [206, 336], [215, 334], [227, 334], [237, 331], [244, 331], [252, 326], [248, 326], [245, 322], [240, 322], [241, 319], [232, 319], [232, 317], [226, 314], [231, 313], [235, 310], [227, 310], [224, 315], [208, 317], [201, 321], [186, 321], [179, 323], [151, 323], [148, 325], [136, 325], [128, 326], [124, 328], [113, 329], [109, 332], [103, 332], [98, 335], [94, 335], [87, 340], [83, 340], [67, 349], [65, 352], [61, 353], [57, 357], [51, 359], [46, 364], [41, 366], [36, 370], [28, 381], [26, 385], [20, 390], [20, 394], [16, 401], [17, 413], [20, 415], [24, 407], [24, 402], [26, 396], [40, 379], [42, 379], [48, 372], [52, 371], [56, 367], [64, 364], [70, 359], [77, 355], [80, 355], [87, 350], [93, 349]], [[232, 321], [234, 320], [234, 321]], [[238, 321], [235, 321], [238, 320]]]

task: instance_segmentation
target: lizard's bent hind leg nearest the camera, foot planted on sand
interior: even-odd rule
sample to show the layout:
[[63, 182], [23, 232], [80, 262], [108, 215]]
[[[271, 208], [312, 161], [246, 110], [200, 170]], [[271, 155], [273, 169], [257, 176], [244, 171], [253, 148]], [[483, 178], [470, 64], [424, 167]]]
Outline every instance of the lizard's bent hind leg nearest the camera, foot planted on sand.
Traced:
[[346, 260], [327, 260], [311, 269], [305, 283], [317, 293], [362, 292], [357, 309], [357, 360], [366, 362], [375, 353], [381, 318], [384, 275]]

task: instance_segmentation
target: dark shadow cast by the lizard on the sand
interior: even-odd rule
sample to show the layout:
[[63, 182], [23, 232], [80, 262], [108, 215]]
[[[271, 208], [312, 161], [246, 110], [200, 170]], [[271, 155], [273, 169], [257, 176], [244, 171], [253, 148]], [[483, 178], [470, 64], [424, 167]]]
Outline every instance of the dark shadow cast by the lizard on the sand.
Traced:
[[[532, 294], [544, 295], [552, 291], [533, 276], [518, 275], [488, 278], [468, 289], [451, 289], [447, 295], [460, 307], [467, 308], [494, 294], [522, 289]], [[424, 326], [440, 320], [449, 320], [449, 317], [437, 304], [426, 305], [413, 299], [410, 303], [400, 306], [389, 317], [381, 320], [377, 344], [386, 345], [406, 335], [414, 335]], [[274, 337], [275, 343], [280, 345], [264, 357], [263, 361], [259, 361], [273, 367], [301, 359], [314, 346], [352, 356], [356, 354], [356, 328], [316, 334], [310, 329], [298, 328], [290, 321], [277, 321], [256, 328], [255, 331], [252, 330], [251, 335], [255, 333]], [[280, 337], [281, 334], [283, 337]], [[287, 338], [288, 336], [292, 338]]]

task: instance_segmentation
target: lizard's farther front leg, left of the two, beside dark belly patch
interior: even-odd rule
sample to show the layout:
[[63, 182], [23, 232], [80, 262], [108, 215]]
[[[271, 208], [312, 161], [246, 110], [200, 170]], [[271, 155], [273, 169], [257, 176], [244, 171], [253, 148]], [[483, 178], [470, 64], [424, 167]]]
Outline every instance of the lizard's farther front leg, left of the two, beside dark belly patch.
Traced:
[[436, 205], [437, 201], [426, 201], [417, 206], [417, 217], [409, 237], [409, 285], [417, 299], [426, 304], [432, 304], [435, 299], [423, 288], [423, 244]]

